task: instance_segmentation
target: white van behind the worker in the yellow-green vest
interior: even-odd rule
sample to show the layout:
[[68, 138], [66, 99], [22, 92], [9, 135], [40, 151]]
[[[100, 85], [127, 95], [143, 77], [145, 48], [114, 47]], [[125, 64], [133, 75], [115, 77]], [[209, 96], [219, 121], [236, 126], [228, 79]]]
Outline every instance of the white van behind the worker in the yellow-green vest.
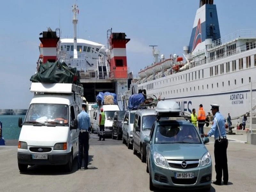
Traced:
[[100, 108], [103, 108], [103, 112], [105, 113], [105, 135], [112, 135], [112, 125], [113, 118], [116, 111], [120, 111], [118, 105], [101, 105], [98, 108], [97, 116], [96, 116], [96, 124], [97, 124], [97, 133], [100, 135]]

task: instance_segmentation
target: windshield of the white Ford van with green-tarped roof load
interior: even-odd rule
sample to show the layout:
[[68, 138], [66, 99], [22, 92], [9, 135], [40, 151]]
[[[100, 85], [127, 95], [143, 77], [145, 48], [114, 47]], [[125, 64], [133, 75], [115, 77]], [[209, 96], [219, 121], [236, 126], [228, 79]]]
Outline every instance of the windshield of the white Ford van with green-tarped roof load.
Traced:
[[24, 124], [68, 125], [68, 105], [33, 103], [29, 106]]

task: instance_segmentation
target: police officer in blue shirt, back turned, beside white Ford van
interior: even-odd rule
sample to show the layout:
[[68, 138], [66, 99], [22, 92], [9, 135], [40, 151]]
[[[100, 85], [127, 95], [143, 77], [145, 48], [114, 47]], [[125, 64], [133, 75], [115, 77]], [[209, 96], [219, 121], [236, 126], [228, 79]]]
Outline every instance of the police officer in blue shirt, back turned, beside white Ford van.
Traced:
[[88, 113], [85, 112], [86, 103], [82, 104], [82, 111], [78, 115], [78, 165], [77, 168], [81, 169], [82, 157], [84, 153], [84, 169], [88, 169], [88, 158], [89, 158], [89, 137], [91, 129], [91, 121]]

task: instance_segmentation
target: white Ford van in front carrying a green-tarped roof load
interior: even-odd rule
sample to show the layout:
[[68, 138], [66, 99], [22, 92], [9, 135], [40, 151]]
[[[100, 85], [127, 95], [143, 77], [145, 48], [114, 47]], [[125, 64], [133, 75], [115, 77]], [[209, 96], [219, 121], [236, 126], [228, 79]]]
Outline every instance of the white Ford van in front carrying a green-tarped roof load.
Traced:
[[81, 111], [83, 87], [75, 84], [31, 83], [34, 92], [22, 123], [18, 143], [18, 166], [65, 165], [72, 170], [78, 154], [77, 115]]

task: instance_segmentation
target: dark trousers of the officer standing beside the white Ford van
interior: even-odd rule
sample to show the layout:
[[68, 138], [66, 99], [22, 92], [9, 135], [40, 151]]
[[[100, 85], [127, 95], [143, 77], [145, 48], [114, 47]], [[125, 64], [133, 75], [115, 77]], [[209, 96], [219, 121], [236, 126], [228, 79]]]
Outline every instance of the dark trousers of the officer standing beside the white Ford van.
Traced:
[[82, 166], [82, 157], [84, 154], [84, 168], [88, 166], [88, 151], [89, 151], [89, 132], [80, 132], [78, 136], [78, 169]]

